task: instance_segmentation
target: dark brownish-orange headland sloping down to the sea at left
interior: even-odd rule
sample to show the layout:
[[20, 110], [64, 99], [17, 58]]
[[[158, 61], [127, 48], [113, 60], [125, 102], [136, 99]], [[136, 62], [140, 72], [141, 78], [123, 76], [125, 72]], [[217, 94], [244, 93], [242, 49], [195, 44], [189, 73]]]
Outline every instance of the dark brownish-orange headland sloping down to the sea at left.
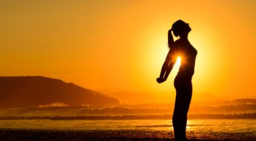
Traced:
[[41, 76], [0, 77], [0, 108], [64, 103], [68, 106], [110, 105], [119, 101], [100, 92]]

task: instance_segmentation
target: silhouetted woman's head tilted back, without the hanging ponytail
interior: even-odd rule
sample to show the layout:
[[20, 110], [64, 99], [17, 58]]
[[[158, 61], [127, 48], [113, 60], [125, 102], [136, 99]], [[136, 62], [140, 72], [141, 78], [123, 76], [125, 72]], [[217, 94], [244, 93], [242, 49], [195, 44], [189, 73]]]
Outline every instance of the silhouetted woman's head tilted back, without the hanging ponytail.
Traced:
[[171, 30], [176, 37], [181, 37], [183, 35], [188, 35], [188, 33], [191, 31], [191, 28], [186, 22], [182, 20], [177, 20], [175, 23], [173, 23]]

